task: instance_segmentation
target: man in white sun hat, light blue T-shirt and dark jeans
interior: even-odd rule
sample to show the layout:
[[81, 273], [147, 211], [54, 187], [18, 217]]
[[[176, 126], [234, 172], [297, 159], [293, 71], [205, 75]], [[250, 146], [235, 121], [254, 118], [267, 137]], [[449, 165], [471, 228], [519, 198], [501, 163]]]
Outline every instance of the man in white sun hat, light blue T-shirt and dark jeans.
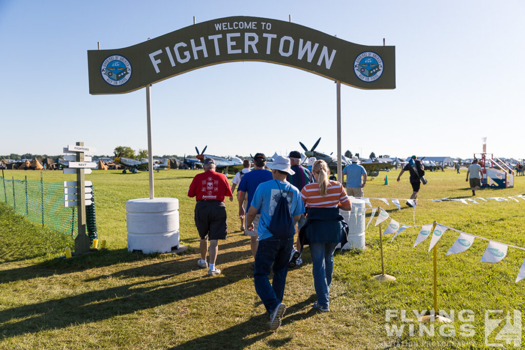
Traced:
[[[255, 257], [254, 284], [257, 295], [270, 314], [270, 331], [275, 331], [281, 325], [281, 316], [286, 311], [286, 305], [282, 303], [282, 296], [285, 292], [293, 236], [274, 237], [268, 230], [268, 226], [281, 195], [288, 200], [290, 212], [295, 221], [298, 221], [301, 214], [304, 213], [304, 204], [299, 190], [286, 181], [288, 174], [295, 174], [290, 168], [290, 158], [278, 156], [274, 163], [268, 164], [267, 167], [271, 169], [274, 179], [257, 187], [246, 216], [246, 226], [250, 230], [254, 229], [252, 222], [260, 209], [261, 216], [257, 228], [259, 248]], [[272, 264], [274, 264], [274, 279], [270, 284], [268, 275]]]

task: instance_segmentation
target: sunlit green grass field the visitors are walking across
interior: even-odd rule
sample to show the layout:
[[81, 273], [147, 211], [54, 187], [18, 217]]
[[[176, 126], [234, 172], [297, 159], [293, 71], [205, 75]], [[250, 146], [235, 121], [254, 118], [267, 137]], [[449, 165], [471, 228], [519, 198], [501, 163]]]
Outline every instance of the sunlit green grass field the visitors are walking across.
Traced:
[[[379, 232], [370, 225], [365, 251], [337, 253], [329, 313], [312, 310], [316, 301], [308, 249], [304, 264], [289, 271], [283, 302], [287, 312], [276, 332], [253, 287], [249, 239], [238, 231], [237, 205], [226, 201], [228, 239], [219, 242], [217, 267], [223, 273], [207, 277], [197, 268], [198, 237], [193, 223], [194, 199], [187, 188], [197, 171], [154, 173], [155, 196], [180, 200], [182, 254], [142, 255], [127, 251], [125, 201], [149, 197], [148, 173], [121, 174], [93, 171], [97, 198], [97, 226], [108, 250], [56, 260], [71, 238], [13, 214], [0, 203], [0, 348], [482, 348], [485, 347], [486, 310], [523, 310], [525, 281], [514, 283], [525, 251], [509, 248], [499, 263], [481, 263], [487, 246], [477, 239], [463, 253], [445, 256], [456, 240], [446, 231], [437, 243], [438, 306], [453, 310], [455, 322], [436, 325], [434, 336], [419, 336], [417, 322], [399, 318], [385, 321], [387, 309], [422, 312], [432, 308], [432, 253], [429, 239], [413, 248], [418, 228], [406, 229], [392, 243], [383, 240], [385, 271], [393, 283], [371, 279], [381, 272]], [[385, 186], [384, 176], [389, 184]], [[6, 171], [6, 178], [39, 178], [39, 172]], [[478, 236], [525, 247], [525, 201], [489, 200], [477, 205], [428, 199], [468, 197], [466, 169], [427, 172], [428, 184], [419, 194], [417, 209], [402, 210], [372, 199], [395, 220], [408, 225], [434, 220]], [[381, 173], [369, 181], [365, 196], [407, 198], [412, 190], [408, 174], [396, 183], [397, 172]], [[64, 181], [74, 175], [44, 172], [44, 181]], [[525, 193], [525, 177], [515, 177], [514, 188], [479, 190], [480, 197]], [[369, 211], [370, 213], [370, 211]], [[367, 215], [367, 220], [368, 220]], [[458, 312], [471, 310], [473, 320]], [[504, 314], [506, 315], [506, 313]], [[385, 325], [415, 324], [415, 335], [388, 336]], [[472, 336], [460, 333], [472, 327]], [[497, 342], [498, 326], [489, 336]], [[451, 334], [455, 331], [455, 335]], [[508, 346], [505, 342], [503, 345]], [[525, 344], [525, 339], [523, 339]]]

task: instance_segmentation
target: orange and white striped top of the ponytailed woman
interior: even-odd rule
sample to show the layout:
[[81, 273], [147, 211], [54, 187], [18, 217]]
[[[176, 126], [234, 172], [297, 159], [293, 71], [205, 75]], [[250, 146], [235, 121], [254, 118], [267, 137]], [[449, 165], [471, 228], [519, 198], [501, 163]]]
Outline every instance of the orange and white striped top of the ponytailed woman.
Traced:
[[319, 184], [314, 182], [303, 187], [301, 198], [304, 205], [310, 208], [335, 208], [339, 203], [350, 203], [343, 185], [332, 180], [329, 181], [326, 196], [321, 196]]

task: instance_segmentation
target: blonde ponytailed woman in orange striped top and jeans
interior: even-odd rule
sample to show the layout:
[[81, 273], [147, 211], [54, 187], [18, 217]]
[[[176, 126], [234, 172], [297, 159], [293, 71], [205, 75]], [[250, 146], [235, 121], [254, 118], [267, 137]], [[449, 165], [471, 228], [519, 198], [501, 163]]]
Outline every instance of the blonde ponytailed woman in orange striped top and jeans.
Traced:
[[343, 186], [329, 180], [329, 174], [325, 161], [315, 162], [312, 175], [316, 182], [301, 190], [301, 198], [307, 207], [307, 222], [300, 232], [301, 246], [310, 245], [313, 284], [318, 299], [313, 307], [324, 312], [330, 311], [333, 253], [338, 243], [346, 241], [348, 233], [348, 226], [339, 209], [352, 209]]

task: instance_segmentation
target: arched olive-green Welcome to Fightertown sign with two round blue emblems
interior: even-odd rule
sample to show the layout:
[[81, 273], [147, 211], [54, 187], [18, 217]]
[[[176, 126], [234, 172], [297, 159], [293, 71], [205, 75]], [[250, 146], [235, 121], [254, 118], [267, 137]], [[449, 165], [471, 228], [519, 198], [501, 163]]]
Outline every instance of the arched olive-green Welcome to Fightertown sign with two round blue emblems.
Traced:
[[360, 89], [395, 89], [394, 46], [364, 46], [282, 20], [237, 16], [121, 49], [88, 50], [89, 93], [131, 92], [235, 61], [295, 67]]

